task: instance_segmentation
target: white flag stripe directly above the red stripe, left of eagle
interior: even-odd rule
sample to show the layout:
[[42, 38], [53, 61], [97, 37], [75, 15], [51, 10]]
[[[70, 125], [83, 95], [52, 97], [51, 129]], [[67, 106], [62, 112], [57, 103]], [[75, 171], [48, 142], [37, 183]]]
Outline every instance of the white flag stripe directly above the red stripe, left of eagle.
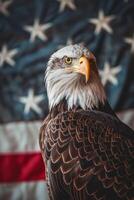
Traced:
[[0, 125], [0, 153], [39, 151], [40, 121]]

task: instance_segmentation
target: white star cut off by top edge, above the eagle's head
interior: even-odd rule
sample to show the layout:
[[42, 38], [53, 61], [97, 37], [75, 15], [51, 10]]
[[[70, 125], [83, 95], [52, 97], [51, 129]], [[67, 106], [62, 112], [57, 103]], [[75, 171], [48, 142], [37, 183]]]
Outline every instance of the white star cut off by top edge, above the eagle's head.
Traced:
[[74, 4], [74, 0], [57, 0], [60, 2], [60, 8], [59, 11], [62, 12], [65, 10], [66, 7], [75, 10], [76, 6]]

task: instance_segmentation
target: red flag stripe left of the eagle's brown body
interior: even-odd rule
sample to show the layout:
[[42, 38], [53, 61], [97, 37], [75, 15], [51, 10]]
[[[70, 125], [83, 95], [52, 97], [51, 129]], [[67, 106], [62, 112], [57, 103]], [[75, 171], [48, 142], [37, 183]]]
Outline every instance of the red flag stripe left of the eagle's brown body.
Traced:
[[45, 180], [40, 153], [0, 154], [0, 182]]

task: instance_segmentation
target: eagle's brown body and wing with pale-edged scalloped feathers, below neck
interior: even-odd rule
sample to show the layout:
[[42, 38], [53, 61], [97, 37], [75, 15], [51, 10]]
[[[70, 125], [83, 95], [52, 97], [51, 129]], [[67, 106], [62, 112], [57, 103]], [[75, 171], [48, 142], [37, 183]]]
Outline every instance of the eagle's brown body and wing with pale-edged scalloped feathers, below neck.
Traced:
[[51, 199], [134, 199], [134, 132], [119, 119], [64, 112], [40, 135]]

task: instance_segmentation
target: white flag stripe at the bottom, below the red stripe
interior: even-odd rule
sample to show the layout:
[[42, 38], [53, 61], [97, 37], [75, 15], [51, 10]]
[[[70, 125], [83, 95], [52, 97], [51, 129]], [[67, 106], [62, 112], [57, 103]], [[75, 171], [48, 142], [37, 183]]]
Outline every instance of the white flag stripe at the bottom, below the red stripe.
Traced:
[[0, 184], [1, 200], [48, 200], [45, 181]]

